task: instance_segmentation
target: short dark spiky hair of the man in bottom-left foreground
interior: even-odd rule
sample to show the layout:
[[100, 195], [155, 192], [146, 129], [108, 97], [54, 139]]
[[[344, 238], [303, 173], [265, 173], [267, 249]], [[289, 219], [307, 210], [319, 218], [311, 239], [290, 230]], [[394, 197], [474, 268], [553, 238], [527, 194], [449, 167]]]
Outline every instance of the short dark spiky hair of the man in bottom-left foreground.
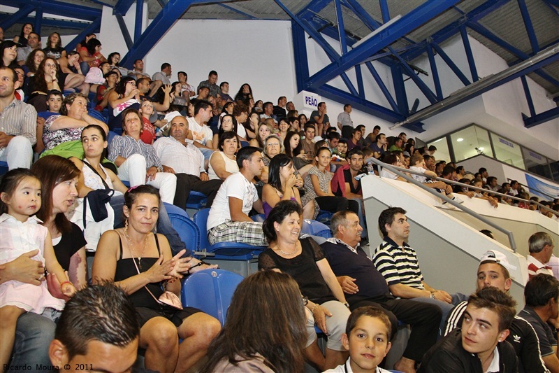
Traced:
[[71, 360], [87, 355], [90, 341], [124, 347], [139, 335], [136, 309], [129, 297], [114, 283], [101, 283], [78, 291], [66, 302], [55, 339], [64, 344]]

